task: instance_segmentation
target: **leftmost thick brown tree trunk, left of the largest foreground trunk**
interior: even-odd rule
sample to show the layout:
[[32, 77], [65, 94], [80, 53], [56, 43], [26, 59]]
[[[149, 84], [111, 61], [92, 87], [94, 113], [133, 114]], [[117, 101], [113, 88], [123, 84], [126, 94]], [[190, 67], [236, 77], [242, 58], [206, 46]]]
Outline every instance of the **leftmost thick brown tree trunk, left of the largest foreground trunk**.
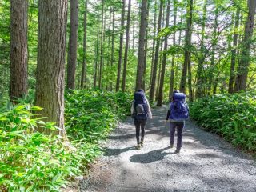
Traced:
[[10, 1], [10, 100], [27, 94], [27, 1]]

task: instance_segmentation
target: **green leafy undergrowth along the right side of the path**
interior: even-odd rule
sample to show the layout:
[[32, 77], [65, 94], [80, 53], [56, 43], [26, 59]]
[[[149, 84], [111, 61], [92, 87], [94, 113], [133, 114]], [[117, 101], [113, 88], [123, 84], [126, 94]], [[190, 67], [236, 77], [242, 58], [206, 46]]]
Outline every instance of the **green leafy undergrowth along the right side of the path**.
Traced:
[[190, 107], [191, 117], [205, 130], [222, 135], [234, 146], [256, 151], [255, 91], [201, 98]]

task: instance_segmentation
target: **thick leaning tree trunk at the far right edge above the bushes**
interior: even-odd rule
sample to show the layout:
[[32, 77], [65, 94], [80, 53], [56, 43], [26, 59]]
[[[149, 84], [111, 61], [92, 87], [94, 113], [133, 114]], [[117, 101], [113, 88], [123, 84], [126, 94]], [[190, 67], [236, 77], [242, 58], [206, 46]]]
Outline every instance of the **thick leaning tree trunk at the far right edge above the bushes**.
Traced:
[[248, 0], [248, 10], [249, 14], [246, 20], [245, 33], [242, 41], [241, 61], [238, 69], [238, 76], [236, 78], [236, 84], [234, 87], [235, 92], [246, 90], [250, 62], [250, 46], [254, 34], [254, 16], [256, 10], [255, 0]]

